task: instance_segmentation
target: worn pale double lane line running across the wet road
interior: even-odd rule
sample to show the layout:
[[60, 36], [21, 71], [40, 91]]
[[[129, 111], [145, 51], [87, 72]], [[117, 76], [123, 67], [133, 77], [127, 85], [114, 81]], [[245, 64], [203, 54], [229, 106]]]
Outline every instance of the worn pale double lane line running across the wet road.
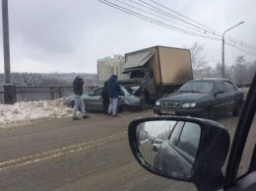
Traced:
[[9, 168], [18, 167], [18, 166], [27, 165], [27, 164], [30, 164], [33, 162], [38, 162], [38, 161], [42, 161], [42, 160], [46, 160], [46, 159], [59, 158], [59, 157], [63, 157], [63, 156], [69, 155], [69, 154], [81, 152], [81, 151], [92, 149], [95, 147], [99, 147], [99, 146], [105, 145], [111, 141], [118, 140], [119, 138], [121, 138], [122, 136], [124, 136], [126, 134], [127, 134], [127, 132], [122, 132], [122, 133], [118, 133], [115, 135], [106, 136], [104, 138], [99, 138], [99, 139], [97, 139], [95, 141], [91, 141], [91, 142], [84, 142], [81, 144], [72, 145], [69, 147], [64, 147], [61, 149], [56, 149], [56, 150], [44, 152], [41, 154], [35, 154], [35, 155], [24, 157], [24, 158], [3, 161], [3, 162], [0, 162], [0, 171], [6, 170]]

